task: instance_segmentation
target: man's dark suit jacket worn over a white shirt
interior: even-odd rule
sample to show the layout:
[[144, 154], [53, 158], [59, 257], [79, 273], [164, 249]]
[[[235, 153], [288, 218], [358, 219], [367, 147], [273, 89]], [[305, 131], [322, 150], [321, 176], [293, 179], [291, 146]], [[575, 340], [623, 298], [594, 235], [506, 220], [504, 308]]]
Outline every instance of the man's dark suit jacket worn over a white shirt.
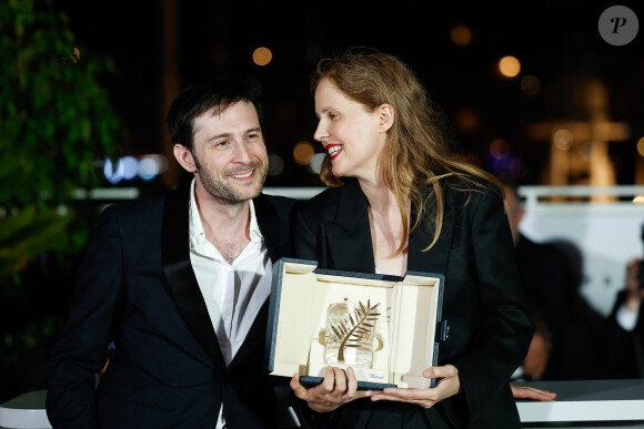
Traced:
[[[190, 264], [189, 190], [101, 214], [46, 370], [54, 428], [214, 428], [222, 402], [230, 428], [276, 426], [262, 369], [269, 300], [227, 367]], [[293, 201], [260, 195], [254, 205], [271, 259], [288, 256]]]

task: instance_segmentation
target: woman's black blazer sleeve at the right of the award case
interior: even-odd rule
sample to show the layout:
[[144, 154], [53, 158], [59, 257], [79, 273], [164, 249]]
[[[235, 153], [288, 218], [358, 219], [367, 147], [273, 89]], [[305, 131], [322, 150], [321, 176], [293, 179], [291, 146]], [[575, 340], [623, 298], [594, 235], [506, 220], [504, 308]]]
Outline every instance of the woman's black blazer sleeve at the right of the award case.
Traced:
[[479, 193], [470, 202], [470, 252], [473, 255], [480, 315], [471, 349], [452, 361], [459, 369], [472, 420], [487, 399], [507, 388], [523, 361], [534, 327], [525, 310], [514, 248], [501, 197]]

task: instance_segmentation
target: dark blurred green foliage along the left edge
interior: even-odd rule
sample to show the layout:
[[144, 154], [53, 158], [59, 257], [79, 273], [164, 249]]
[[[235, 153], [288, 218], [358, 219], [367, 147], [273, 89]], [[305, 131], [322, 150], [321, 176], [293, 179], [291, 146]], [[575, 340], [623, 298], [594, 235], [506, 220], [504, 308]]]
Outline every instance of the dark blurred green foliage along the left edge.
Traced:
[[72, 192], [101, 184], [95, 162], [122, 141], [104, 84], [114, 71], [52, 0], [0, 1], [0, 402], [43, 388], [95, 217]]

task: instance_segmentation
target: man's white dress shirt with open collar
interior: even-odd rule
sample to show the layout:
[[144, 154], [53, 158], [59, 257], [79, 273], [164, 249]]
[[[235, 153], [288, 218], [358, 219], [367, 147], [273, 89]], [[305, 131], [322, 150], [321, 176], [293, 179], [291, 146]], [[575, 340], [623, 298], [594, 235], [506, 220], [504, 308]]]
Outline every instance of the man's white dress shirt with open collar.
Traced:
[[[225, 365], [243, 344], [260, 308], [271, 293], [273, 265], [250, 202], [250, 243], [229, 264], [205, 238], [197, 202], [194, 180], [190, 192], [190, 262], [217, 333]], [[218, 428], [225, 428], [223, 407]]]

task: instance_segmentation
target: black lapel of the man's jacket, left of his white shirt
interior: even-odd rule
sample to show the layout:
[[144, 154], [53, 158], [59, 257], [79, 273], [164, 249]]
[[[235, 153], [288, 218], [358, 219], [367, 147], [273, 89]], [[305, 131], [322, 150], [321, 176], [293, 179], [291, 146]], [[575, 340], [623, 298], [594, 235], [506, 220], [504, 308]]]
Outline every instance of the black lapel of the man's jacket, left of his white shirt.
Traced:
[[165, 286], [188, 328], [213, 357], [215, 365], [224, 370], [223, 355], [190, 264], [189, 202], [190, 184], [171, 192], [165, 200], [161, 229]]

